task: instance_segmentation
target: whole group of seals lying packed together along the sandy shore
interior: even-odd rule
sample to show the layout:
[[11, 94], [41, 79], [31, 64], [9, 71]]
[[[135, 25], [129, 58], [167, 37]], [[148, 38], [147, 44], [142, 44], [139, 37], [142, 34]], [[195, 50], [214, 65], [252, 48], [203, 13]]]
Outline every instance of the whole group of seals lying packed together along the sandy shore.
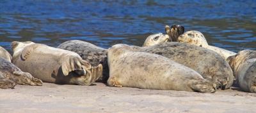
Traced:
[[13, 56], [0, 48], [0, 88], [98, 81], [116, 87], [214, 93], [230, 88], [235, 80], [241, 90], [256, 92], [255, 51], [236, 54], [209, 46], [202, 33], [184, 33], [180, 25], [166, 25], [165, 32], [148, 36], [143, 47], [116, 44], [105, 49], [73, 40], [53, 48], [14, 41]]

